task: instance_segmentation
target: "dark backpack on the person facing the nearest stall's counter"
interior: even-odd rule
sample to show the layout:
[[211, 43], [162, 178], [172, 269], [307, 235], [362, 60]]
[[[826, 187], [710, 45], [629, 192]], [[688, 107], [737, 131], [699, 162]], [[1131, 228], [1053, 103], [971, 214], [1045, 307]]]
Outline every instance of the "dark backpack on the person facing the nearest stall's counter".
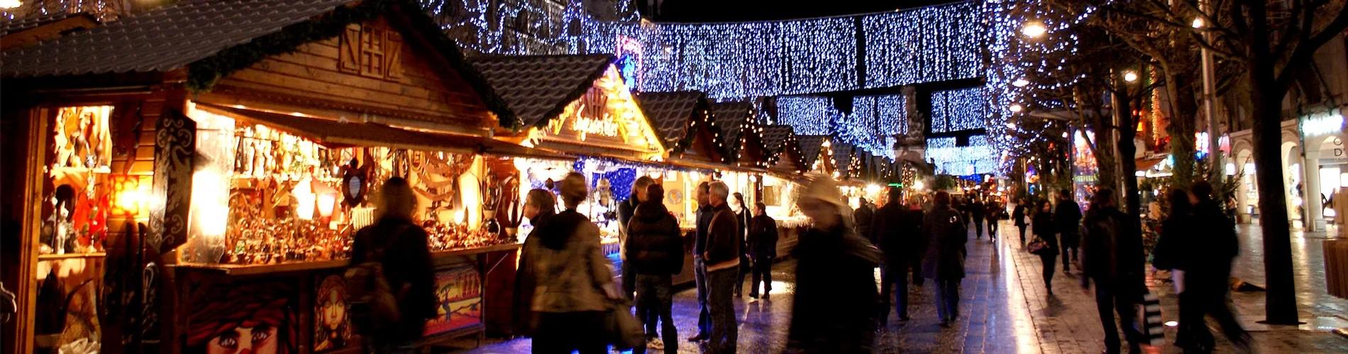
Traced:
[[[388, 277], [384, 276], [384, 253], [387, 248], [398, 241], [398, 236], [406, 230], [407, 225], [399, 225], [392, 237], [386, 242], [371, 242], [365, 250], [365, 261], [346, 268], [346, 304], [348, 316], [356, 326], [356, 332], [363, 335], [384, 332], [391, 330], [400, 319], [402, 311], [398, 308], [398, 299], [394, 296]], [[357, 233], [376, 232], [373, 227]]]

